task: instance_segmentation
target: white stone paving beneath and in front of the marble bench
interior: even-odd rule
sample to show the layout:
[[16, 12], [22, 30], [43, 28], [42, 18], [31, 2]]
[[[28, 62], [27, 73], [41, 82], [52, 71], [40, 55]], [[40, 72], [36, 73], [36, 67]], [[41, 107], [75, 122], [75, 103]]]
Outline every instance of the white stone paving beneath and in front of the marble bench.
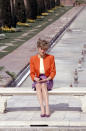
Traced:
[[81, 112], [81, 103], [78, 99], [70, 96], [49, 96], [49, 101], [51, 116], [41, 118], [36, 96], [12, 97], [8, 101], [8, 112], [0, 114], [0, 127], [86, 126], [86, 113]]

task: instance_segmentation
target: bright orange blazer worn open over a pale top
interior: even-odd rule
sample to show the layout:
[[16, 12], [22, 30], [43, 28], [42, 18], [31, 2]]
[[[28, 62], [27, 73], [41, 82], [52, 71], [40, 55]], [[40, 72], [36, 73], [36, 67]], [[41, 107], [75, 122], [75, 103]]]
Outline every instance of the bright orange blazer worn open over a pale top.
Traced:
[[[56, 67], [55, 67], [55, 60], [53, 55], [46, 54], [46, 56], [43, 58], [44, 63], [44, 70], [45, 75], [47, 77], [51, 77], [52, 79], [56, 75]], [[40, 75], [40, 58], [38, 57], [38, 54], [35, 56], [32, 56], [30, 58], [30, 76], [32, 80], [34, 80], [34, 77], [39, 77]]]

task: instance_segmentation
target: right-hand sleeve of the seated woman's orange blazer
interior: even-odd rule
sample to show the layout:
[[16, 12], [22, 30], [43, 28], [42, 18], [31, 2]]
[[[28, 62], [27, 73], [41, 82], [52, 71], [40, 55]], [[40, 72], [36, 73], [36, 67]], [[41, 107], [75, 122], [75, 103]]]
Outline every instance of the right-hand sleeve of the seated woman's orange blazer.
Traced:
[[51, 69], [50, 69], [50, 77], [53, 79], [56, 75], [56, 66], [54, 56], [51, 57]]

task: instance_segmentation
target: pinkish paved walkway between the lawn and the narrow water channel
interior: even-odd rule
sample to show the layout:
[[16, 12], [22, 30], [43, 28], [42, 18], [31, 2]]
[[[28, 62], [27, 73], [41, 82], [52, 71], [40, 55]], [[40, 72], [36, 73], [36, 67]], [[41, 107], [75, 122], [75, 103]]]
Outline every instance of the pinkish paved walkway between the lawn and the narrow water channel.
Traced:
[[56, 34], [59, 34], [69, 24], [69, 22], [75, 16], [77, 16], [82, 8], [82, 6], [72, 8], [70, 11], [60, 17], [59, 20], [49, 25], [32, 39], [24, 43], [21, 47], [0, 59], [0, 66], [5, 67], [0, 74], [3, 78], [2, 81], [0, 81], [0, 86], [4, 87], [11, 81], [11, 78], [5, 73], [6, 70], [19, 74], [21, 70], [23, 70], [23, 68], [29, 63], [30, 56], [36, 53], [36, 42], [38, 38], [51, 41]]

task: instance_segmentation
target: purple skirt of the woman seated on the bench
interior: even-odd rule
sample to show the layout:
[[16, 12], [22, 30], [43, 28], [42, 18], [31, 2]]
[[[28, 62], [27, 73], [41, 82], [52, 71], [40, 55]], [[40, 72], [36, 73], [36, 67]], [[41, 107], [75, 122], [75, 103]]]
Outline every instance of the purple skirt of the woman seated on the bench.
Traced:
[[[39, 76], [39, 78], [41, 78], [41, 79], [46, 79], [47, 77], [46, 77], [44, 74], [41, 74], [41, 75]], [[47, 90], [48, 90], [48, 91], [52, 90], [53, 80], [46, 81], [45, 83], [47, 84]], [[36, 81], [34, 81], [33, 84], [32, 84], [32, 88], [33, 88], [34, 90], [36, 90], [36, 84], [37, 84]]]

